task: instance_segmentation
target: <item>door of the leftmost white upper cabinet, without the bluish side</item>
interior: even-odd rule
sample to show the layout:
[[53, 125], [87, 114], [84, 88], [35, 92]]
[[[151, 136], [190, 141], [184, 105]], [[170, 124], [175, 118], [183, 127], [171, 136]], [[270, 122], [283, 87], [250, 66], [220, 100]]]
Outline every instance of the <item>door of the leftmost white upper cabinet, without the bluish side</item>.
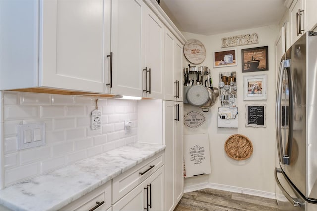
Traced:
[[104, 0], [40, 2], [43, 18], [40, 19], [39, 85], [102, 92], [103, 31], [109, 27], [103, 14], [104, 9], [110, 8], [104, 8]]

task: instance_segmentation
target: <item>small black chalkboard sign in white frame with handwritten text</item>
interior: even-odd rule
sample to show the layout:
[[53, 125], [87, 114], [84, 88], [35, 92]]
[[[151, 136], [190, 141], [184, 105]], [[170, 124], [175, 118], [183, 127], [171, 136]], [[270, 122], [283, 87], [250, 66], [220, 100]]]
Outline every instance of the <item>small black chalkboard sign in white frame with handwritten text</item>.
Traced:
[[246, 105], [246, 127], [266, 127], [266, 105]]

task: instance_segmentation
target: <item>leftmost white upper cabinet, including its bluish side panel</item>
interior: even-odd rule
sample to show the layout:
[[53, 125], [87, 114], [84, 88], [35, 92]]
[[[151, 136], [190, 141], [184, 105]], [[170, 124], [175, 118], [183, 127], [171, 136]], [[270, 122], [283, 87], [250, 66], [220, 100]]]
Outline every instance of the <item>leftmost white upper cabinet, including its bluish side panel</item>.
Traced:
[[109, 0], [1, 1], [0, 8], [1, 89], [104, 91]]

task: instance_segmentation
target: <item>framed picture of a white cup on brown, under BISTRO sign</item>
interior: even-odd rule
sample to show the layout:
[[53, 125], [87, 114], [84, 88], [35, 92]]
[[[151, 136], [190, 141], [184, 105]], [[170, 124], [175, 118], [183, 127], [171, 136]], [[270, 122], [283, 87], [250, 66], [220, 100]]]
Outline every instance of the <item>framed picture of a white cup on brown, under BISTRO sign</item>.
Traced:
[[213, 67], [237, 66], [237, 49], [213, 52]]

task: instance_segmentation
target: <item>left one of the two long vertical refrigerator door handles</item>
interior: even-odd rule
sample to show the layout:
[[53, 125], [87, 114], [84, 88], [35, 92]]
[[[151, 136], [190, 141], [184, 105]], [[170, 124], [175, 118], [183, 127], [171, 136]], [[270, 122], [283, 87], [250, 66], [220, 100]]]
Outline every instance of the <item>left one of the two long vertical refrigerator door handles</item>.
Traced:
[[283, 89], [283, 73], [284, 73], [285, 60], [282, 60], [279, 66], [278, 82], [277, 82], [277, 93], [276, 93], [276, 142], [278, 159], [281, 164], [284, 163], [283, 155], [283, 143], [282, 143], [282, 124], [281, 124], [281, 101], [282, 101], [282, 89]]

